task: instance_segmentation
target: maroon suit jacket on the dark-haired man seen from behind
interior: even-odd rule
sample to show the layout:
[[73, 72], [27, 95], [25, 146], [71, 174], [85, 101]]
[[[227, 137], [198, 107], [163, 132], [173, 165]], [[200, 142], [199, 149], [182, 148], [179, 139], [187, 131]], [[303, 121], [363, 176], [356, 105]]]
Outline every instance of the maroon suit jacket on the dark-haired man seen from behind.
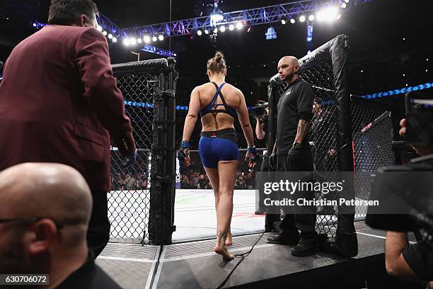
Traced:
[[57, 162], [110, 191], [110, 135], [135, 149], [108, 43], [94, 28], [46, 26], [11, 52], [0, 84], [0, 170]]

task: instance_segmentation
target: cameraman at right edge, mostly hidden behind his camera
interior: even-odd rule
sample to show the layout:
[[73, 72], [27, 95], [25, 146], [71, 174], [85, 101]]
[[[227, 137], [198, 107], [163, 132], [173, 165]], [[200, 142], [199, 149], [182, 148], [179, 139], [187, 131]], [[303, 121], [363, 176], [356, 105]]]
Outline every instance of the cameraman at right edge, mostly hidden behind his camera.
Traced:
[[[400, 135], [405, 136], [406, 120], [400, 121]], [[433, 147], [416, 147], [415, 152], [424, 156], [433, 154]], [[433, 280], [433, 251], [425, 243], [409, 244], [407, 232], [386, 233], [385, 265], [389, 275], [412, 281]], [[433, 285], [433, 284], [432, 284]], [[427, 288], [432, 288], [428, 286]]]

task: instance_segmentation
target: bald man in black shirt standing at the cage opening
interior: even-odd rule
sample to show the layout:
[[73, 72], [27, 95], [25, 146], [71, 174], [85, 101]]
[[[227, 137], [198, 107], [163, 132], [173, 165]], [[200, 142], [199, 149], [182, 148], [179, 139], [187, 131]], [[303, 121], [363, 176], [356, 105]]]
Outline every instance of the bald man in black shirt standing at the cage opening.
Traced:
[[[276, 166], [277, 171], [313, 171], [307, 134], [313, 118], [314, 92], [311, 84], [301, 79], [298, 72], [296, 57], [286, 56], [279, 60], [279, 78], [288, 86], [278, 101], [277, 140], [270, 156], [270, 164]], [[304, 198], [312, 199], [313, 192], [306, 193]], [[271, 243], [296, 244], [291, 249], [294, 256], [307, 256], [317, 247], [316, 208], [304, 206], [301, 210], [302, 213], [287, 213], [279, 225], [282, 232], [267, 238]]]

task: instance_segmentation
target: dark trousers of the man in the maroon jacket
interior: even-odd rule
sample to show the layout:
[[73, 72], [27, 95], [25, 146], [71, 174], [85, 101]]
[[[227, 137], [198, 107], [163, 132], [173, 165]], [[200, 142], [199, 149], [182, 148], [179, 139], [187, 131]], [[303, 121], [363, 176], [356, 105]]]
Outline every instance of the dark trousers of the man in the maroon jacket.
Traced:
[[103, 251], [110, 239], [107, 193], [92, 191], [93, 208], [87, 231], [87, 246], [96, 257]]

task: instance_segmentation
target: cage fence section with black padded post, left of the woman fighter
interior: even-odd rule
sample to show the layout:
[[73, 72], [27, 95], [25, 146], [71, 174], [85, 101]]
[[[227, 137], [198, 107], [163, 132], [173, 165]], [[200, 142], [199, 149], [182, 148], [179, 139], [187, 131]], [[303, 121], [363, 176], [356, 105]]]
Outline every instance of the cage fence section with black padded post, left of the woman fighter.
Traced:
[[125, 169], [111, 150], [110, 241], [171, 244], [175, 231], [175, 71], [173, 58], [114, 64], [132, 122], [137, 162]]

